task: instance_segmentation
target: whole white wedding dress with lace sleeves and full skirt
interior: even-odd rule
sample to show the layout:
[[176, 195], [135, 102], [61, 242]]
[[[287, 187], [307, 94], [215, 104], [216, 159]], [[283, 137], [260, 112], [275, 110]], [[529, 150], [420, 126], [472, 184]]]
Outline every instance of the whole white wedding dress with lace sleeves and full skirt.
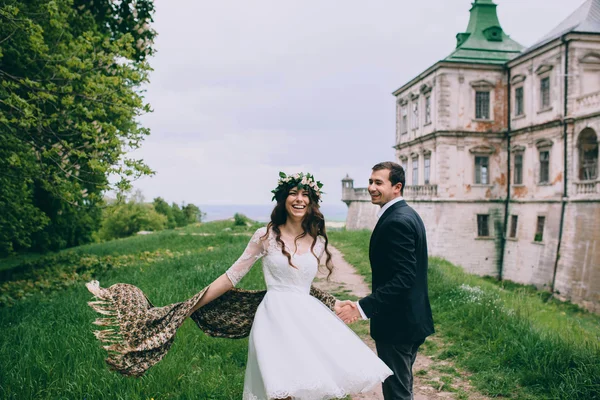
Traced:
[[[258, 229], [227, 276], [235, 285], [263, 258], [267, 294], [258, 306], [248, 346], [244, 400], [343, 398], [380, 384], [392, 371], [334, 312], [309, 295], [318, 260], [281, 252], [272, 230]], [[287, 249], [287, 247], [286, 247]], [[317, 256], [324, 251], [319, 237]]]

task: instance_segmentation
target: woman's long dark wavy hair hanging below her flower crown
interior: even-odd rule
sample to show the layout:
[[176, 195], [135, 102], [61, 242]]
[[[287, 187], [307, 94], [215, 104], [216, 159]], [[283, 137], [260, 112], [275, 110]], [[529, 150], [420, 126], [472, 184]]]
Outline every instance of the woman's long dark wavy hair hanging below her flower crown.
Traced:
[[[286, 223], [288, 218], [287, 210], [285, 208], [285, 201], [289, 195], [289, 192], [292, 189], [295, 188], [290, 187], [287, 191], [280, 190], [276, 193], [275, 200], [277, 201], [277, 204], [271, 212], [271, 222], [269, 222], [269, 224], [267, 225], [267, 233], [263, 238], [269, 237], [269, 232], [272, 229], [273, 232], [275, 232], [275, 240], [277, 241], [277, 243], [279, 243], [283, 255], [287, 257], [288, 263], [293, 268], [297, 268], [292, 262], [291, 254], [285, 249], [283, 240], [281, 240], [281, 230], [279, 229], [281, 225], [284, 225]], [[294, 244], [296, 244], [298, 239], [302, 239], [306, 235], [309, 235], [313, 238], [313, 242], [310, 246], [310, 252], [315, 256], [315, 258], [317, 258], [317, 260], [319, 260], [319, 257], [315, 254], [314, 248], [315, 244], [317, 243], [317, 238], [319, 236], [323, 236], [323, 238], [325, 239], [325, 254], [327, 254], [325, 267], [327, 267], [327, 270], [329, 271], [329, 273], [327, 274], [327, 279], [329, 279], [331, 273], [333, 272], [333, 262], [331, 261], [331, 253], [328, 249], [329, 238], [327, 237], [327, 233], [325, 232], [325, 218], [323, 217], [323, 214], [319, 209], [319, 197], [317, 196], [315, 191], [312, 188], [307, 188], [305, 190], [308, 190], [308, 197], [310, 199], [310, 202], [306, 207], [306, 215], [304, 216], [304, 219], [302, 219], [303, 232], [300, 235], [296, 236], [296, 238], [294, 239]]]

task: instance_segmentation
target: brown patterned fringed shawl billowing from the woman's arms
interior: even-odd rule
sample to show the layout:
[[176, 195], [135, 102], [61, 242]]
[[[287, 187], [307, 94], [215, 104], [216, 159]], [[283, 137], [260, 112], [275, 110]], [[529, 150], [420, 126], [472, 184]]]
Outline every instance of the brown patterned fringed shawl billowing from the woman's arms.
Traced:
[[[142, 376], [169, 351], [177, 329], [183, 324], [208, 287], [190, 299], [155, 307], [133, 285], [117, 283], [109, 288], [98, 281], [86, 284], [96, 301], [88, 304], [105, 317], [94, 324], [108, 327], [94, 334], [108, 351], [107, 364], [127, 376]], [[250, 334], [258, 305], [266, 291], [231, 289], [196, 310], [191, 318], [209, 336], [239, 339]], [[311, 296], [333, 310], [335, 297], [311, 286]]]

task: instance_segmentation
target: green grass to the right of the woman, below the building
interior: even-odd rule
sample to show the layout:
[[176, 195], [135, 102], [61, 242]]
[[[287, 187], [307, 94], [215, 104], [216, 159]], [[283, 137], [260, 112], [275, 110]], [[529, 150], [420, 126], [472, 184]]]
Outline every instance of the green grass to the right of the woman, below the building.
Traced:
[[[370, 232], [332, 232], [348, 262], [368, 277]], [[437, 258], [429, 263], [429, 296], [443, 346], [424, 352], [470, 371], [491, 397], [599, 399], [600, 316], [541, 292], [466, 274]], [[447, 382], [450, 384], [450, 382]]]

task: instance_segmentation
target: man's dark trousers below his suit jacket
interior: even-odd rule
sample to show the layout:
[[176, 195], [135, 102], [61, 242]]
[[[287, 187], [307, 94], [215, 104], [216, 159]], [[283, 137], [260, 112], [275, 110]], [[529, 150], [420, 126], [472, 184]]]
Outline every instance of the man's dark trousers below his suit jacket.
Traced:
[[383, 382], [383, 398], [385, 400], [412, 400], [413, 374], [412, 366], [417, 359], [417, 350], [424, 340], [408, 344], [388, 344], [375, 342], [377, 355], [394, 371]]

